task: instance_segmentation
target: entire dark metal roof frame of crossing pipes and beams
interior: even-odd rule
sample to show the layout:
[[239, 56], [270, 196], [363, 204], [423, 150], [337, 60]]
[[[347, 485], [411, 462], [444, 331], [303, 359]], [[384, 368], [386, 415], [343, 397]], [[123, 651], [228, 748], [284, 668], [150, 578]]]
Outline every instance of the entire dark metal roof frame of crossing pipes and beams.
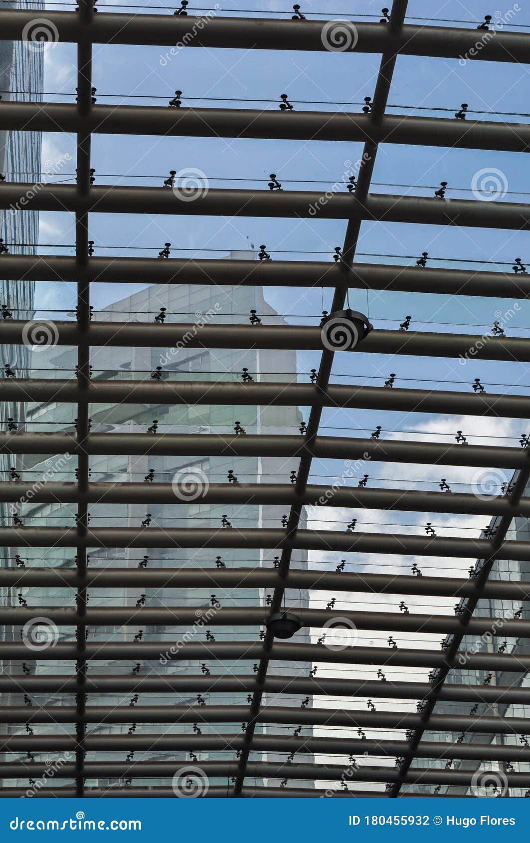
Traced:
[[[242, 284], [293, 287], [321, 286], [334, 292], [332, 312], [345, 305], [350, 287], [361, 289], [391, 288], [394, 290], [428, 293], [458, 293], [491, 298], [510, 296], [527, 298], [530, 295], [528, 276], [519, 277], [499, 271], [474, 272], [404, 268], [402, 266], [374, 266], [354, 263], [356, 245], [363, 220], [388, 222], [431, 223], [436, 225], [479, 226], [503, 229], [530, 228], [530, 206], [511, 202], [488, 203], [464, 200], [443, 200], [410, 196], [371, 194], [370, 185], [378, 145], [382, 142], [444, 145], [458, 148], [509, 150], [526, 152], [530, 144], [530, 127], [520, 124], [487, 123], [483, 121], [454, 121], [447, 119], [397, 118], [386, 115], [388, 92], [393, 69], [399, 55], [445, 56], [458, 58], [476, 44], [475, 30], [447, 27], [417, 27], [404, 24], [407, 0], [393, 0], [388, 24], [356, 24], [356, 51], [380, 52], [381, 64], [369, 115], [335, 114], [329, 111], [295, 111], [286, 119], [278, 111], [186, 109], [159, 107], [118, 107], [92, 104], [92, 46], [96, 44], [128, 44], [171, 46], [184, 39], [195, 47], [236, 47], [281, 50], [323, 50], [324, 21], [257, 20], [222, 18], [211, 19], [206, 27], [189, 42], [185, 36], [193, 27], [193, 16], [143, 15], [126, 13], [94, 14], [93, 0], [80, 0], [78, 12], [46, 12], [61, 34], [78, 46], [78, 104], [0, 103], [0, 129], [38, 129], [47, 132], [76, 132], [78, 137], [77, 183], [70, 185], [42, 185], [24, 201], [26, 209], [70, 211], [75, 213], [75, 257], [51, 255], [2, 255], [2, 275], [13, 282], [50, 280], [76, 282], [78, 285], [77, 323], [58, 322], [58, 343], [75, 346], [78, 354], [78, 378], [4, 379], [0, 381], [0, 401], [51, 402], [61, 400], [77, 405], [78, 429], [74, 433], [1, 432], [0, 450], [6, 454], [53, 454], [67, 448], [78, 458], [76, 483], [47, 483], [35, 491], [35, 502], [75, 502], [78, 505], [76, 528], [1, 527], [0, 546], [66, 546], [76, 549], [76, 567], [0, 570], [0, 587], [52, 586], [62, 583], [76, 592], [76, 608], [40, 607], [39, 615], [53, 620], [58, 626], [76, 629], [76, 642], [59, 643], [52, 650], [39, 653], [38, 658], [64, 658], [75, 663], [75, 676], [64, 677], [8, 675], [0, 676], [0, 691], [24, 689], [28, 694], [61, 688], [75, 696], [75, 706], [42, 707], [35, 711], [15, 707], [0, 707], [0, 722], [67, 722], [75, 723], [75, 737], [57, 730], [53, 735], [16, 735], [0, 738], [0, 751], [27, 751], [31, 748], [59, 752], [75, 751], [75, 763], [63, 765], [59, 777], [73, 778], [75, 788], [46, 788], [42, 796], [120, 795], [173, 796], [171, 788], [154, 787], [145, 792], [135, 787], [113, 788], [107, 794], [99, 788], [86, 787], [88, 777], [142, 776], [159, 778], [172, 776], [171, 762], [142, 761], [118, 763], [114, 761], [86, 762], [85, 752], [113, 749], [215, 749], [234, 752], [238, 760], [201, 762], [208, 776], [233, 777], [233, 785], [210, 787], [213, 797], [319, 797], [318, 790], [267, 787], [250, 788], [248, 776], [278, 778], [286, 775], [286, 767], [274, 762], [255, 762], [254, 751], [296, 752], [312, 754], [361, 753], [397, 756], [395, 768], [386, 765], [363, 767], [353, 771], [351, 781], [386, 782], [386, 792], [356, 792], [364, 796], [410, 796], [401, 792], [402, 785], [418, 782], [432, 784], [461, 784], [468, 786], [468, 770], [424, 770], [412, 767], [415, 759], [460, 759], [528, 761], [530, 750], [525, 746], [490, 744], [444, 744], [423, 739], [427, 729], [460, 731], [463, 733], [526, 733], [530, 720], [514, 717], [510, 720], [494, 716], [490, 711], [476, 717], [468, 715], [436, 714], [437, 701], [479, 702], [487, 705], [524, 704], [530, 702], [530, 690], [510, 685], [469, 686], [447, 684], [447, 675], [458, 668], [463, 638], [468, 633], [477, 636], [487, 632], [494, 619], [474, 617], [479, 599], [495, 596], [517, 601], [530, 600], [530, 583], [491, 582], [490, 572], [496, 560], [530, 561], [530, 543], [508, 540], [511, 520], [515, 516], [530, 516], [530, 498], [523, 492], [530, 479], [530, 450], [406, 441], [377, 442], [361, 438], [331, 438], [319, 433], [323, 408], [338, 406], [405, 410], [414, 412], [454, 412], [474, 416], [527, 415], [526, 395], [483, 395], [463, 392], [442, 392], [421, 389], [382, 389], [331, 384], [330, 377], [335, 352], [323, 345], [321, 330], [316, 327], [261, 326], [260, 330], [242, 325], [204, 325], [188, 340], [190, 346], [205, 348], [305, 349], [322, 350], [316, 384], [251, 383], [237, 380], [217, 384], [153, 381], [105, 381], [90, 379], [90, 349], [94, 346], [172, 346], [190, 332], [190, 325], [137, 325], [98, 323], [90, 321], [90, 284], [94, 282], [135, 282], [146, 275], [153, 282], [190, 284]], [[34, 19], [30, 11], [0, 10], [0, 30], [9, 39], [20, 39], [24, 26]], [[474, 56], [477, 60], [494, 62], [530, 62], [530, 35], [497, 31], [487, 39]], [[250, 261], [227, 260], [151, 260], [146, 258], [101, 258], [88, 255], [88, 214], [91, 212], [156, 212], [160, 214], [207, 214], [259, 217], [307, 217], [308, 207], [318, 201], [320, 194], [311, 191], [234, 191], [211, 190], [197, 201], [175, 201], [172, 191], [150, 187], [112, 187], [90, 185], [90, 142], [93, 133], [133, 135], [138, 133], [174, 136], [264, 137], [298, 138], [303, 140], [360, 141], [364, 155], [352, 195], [336, 193], [322, 208], [323, 218], [347, 221], [342, 261], [335, 264], [320, 262], [264, 261], [256, 265]], [[5, 182], [0, 185], [0, 208], [8, 208], [24, 196], [27, 185]], [[22, 341], [24, 322], [9, 319], [0, 325], [0, 339], [5, 344]], [[458, 357], [479, 340], [477, 336], [408, 333], [393, 330], [373, 330], [362, 343], [363, 352], [409, 354], [436, 357]], [[518, 337], [495, 338], [484, 343], [477, 359], [520, 362], [530, 361], [530, 340]], [[163, 438], [149, 434], [114, 435], [91, 433], [88, 424], [90, 403], [126, 402], [156, 404], [187, 404], [206, 401], [220, 405], [308, 405], [311, 408], [307, 434], [295, 436], [220, 436], [168, 435]], [[288, 508], [285, 529], [131, 529], [94, 528], [88, 530], [90, 502], [175, 502], [172, 486], [163, 483], [93, 483], [89, 481], [89, 457], [93, 454], [174, 454], [174, 455], [272, 455], [299, 457], [296, 482], [291, 485], [211, 485], [206, 502], [231, 501], [246, 503], [282, 503]], [[375, 507], [418, 512], [479, 513], [498, 518], [495, 535], [480, 540], [457, 537], [439, 538], [415, 535], [339, 533], [301, 529], [303, 506], [324, 505], [329, 486], [308, 484], [313, 459], [370, 459], [400, 463], [437, 463], [440, 465], [490, 466], [516, 471], [511, 490], [505, 497], [479, 499], [469, 494], [403, 491], [398, 489], [360, 489], [345, 487], [333, 493], [334, 505], [342, 507]], [[366, 459], [366, 456], [365, 456]], [[0, 483], [0, 500], [16, 502], [29, 490], [25, 482]], [[88, 547], [194, 547], [276, 549], [281, 552], [280, 564], [272, 569], [129, 569], [89, 570]], [[355, 574], [298, 571], [291, 567], [292, 550], [357, 550], [379, 554], [420, 554], [422, 556], [464, 556], [483, 560], [475, 577], [470, 579], [446, 577], [393, 577], [389, 574]], [[319, 588], [339, 592], [375, 594], [420, 594], [454, 596], [461, 602], [461, 610], [454, 617], [447, 615], [396, 615], [384, 612], [340, 612], [342, 618], [355, 621], [362, 630], [388, 630], [389, 627], [409, 632], [436, 632], [447, 636], [447, 648], [441, 651], [426, 649], [383, 649], [380, 647], [345, 647], [340, 652], [319, 645], [279, 642], [270, 630], [260, 642], [186, 643], [169, 658], [251, 659], [257, 664], [255, 674], [210, 677], [204, 675], [171, 675], [158, 677], [109, 677], [95, 672], [87, 675], [91, 658], [158, 658], [163, 645], [156, 642], [91, 644], [85, 630], [90, 625], [127, 624], [137, 610], [129, 608], [88, 608], [87, 590], [97, 583], [98, 588], [115, 585], [153, 585], [168, 588], [240, 588], [271, 589], [270, 607], [260, 606], [222, 608], [215, 624], [231, 626], [260, 625], [265, 611], [274, 614], [281, 610], [286, 588]], [[32, 616], [32, 609], [0, 609], [0, 625], [18, 626]], [[305, 609], [299, 613], [304, 626], [323, 626], [333, 620], [331, 609]], [[141, 609], [142, 623], [189, 626], [194, 610], [188, 607]], [[503, 635], [530, 638], [530, 621], [507, 620]], [[414, 638], [411, 639], [414, 642]], [[24, 643], [10, 642], [3, 647], [3, 658], [24, 660]], [[293, 675], [271, 675], [270, 662], [278, 660], [286, 666], [309, 661], [354, 664], [379, 664], [434, 668], [431, 683], [374, 682], [354, 679], [313, 679]], [[503, 673], [524, 674], [530, 668], [530, 657], [504, 652], [476, 652], [467, 654], [470, 669], [479, 668]], [[109, 708], [90, 706], [87, 695], [109, 692], [155, 692], [172, 688], [192, 693], [205, 693], [213, 685], [217, 690], [241, 691], [250, 696], [248, 706], [139, 706], [135, 707], [137, 722], [220, 722], [242, 720], [248, 723], [244, 733], [196, 735], [97, 735], [86, 734], [88, 723], [130, 722], [131, 709], [126, 706]], [[265, 693], [313, 692], [326, 695], [370, 696], [388, 699], [418, 700], [422, 705], [415, 714], [400, 711], [359, 712], [329, 709], [295, 709], [286, 706], [264, 706]], [[260, 722], [308, 725], [335, 725], [345, 728], [410, 729], [407, 742], [399, 740], [372, 741], [351, 738], [294, 737], [260, 735], [255, 732]], [[34, 763], [36, 775], [45, 765]], [[329, 780], [340, 778], [343, 767], [338, 765], [298, 764], [288, 767], [292, 779]], [[0, 777], [19, 777], [27, 773], [27, 766], [18, 762], [0, 763]], [[530, 787], [530, 774], [511, 772], [508, 787]], [[15, 788], [0, 790], [0, 797], [19, 796]], [[347, 792], [332, 792], [335, 797], [347, 797]], [[421, 795], [421, 794], [420, 794]], [[452, 794], [449, 794], [452, 795]]]

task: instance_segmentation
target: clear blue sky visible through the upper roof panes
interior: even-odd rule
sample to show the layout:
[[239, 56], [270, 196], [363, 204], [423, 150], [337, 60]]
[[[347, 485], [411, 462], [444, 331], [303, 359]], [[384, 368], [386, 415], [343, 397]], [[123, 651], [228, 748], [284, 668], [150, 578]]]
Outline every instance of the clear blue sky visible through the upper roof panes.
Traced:
[[[240, 3], [222, 3], [222, 8], [227, 10], [239, 6]], [[261, 0], [245, 0], [244, 8], [266, 8], [275, 17], [288, 17], [280, 13], [286, 13], [288, 9], [288, 5], [283, 2], [267, 2], [264, 5]], [[412, 20], [414, 14], [417, 14], [422, 18], [480, 21], [484, 17], [484, 8], [482, 2], [413, 2], [409, 4], [407, 19]], [[507, 6], [500, 13], [506, 15], [513, 8]], [[354, 0], [303, 3], [302, 11], [321, 12], [322, 16], [333, 17], [345, 15], [355, 18], [356, 13], [378, 16], [380, 3], [378, 0], [377, 3], [358, 3]], [[491, 14], [495, 15], [496, 11], [490, 9]], [[507, 29], [530, 25], [528, 9], [511, 14], [513, 17]], [[498, 18], [499, 15], [495, 15], [495, 19]], [[461, 25], [474, 28], [473, 24]], [[286, 92], [295, 102], [295, 108], [328, 107], [296, 105], [297, 100], [305, 99], [351, 103], [329, 108], [360, 110], [359, 105], [353, 104], [362, 103], [365, 96], [373, 94], [379, 63], [378, 55], [355, 52], [211, 51], [192, 48], [181, 49], [176, 56], [170, 57], [169, 62], [161, 62], [167, 48], [163, 51], [157, 47], [134, 48], [134, 60], [131, 59], [132, 50], [129, 46], [94, 47], [94, 85], [98, 89], [99, 102], [160, 105], [163, 100], [124, 99], [120, 94], [134, 94], [138, 98], [141, 95], [167, 96], [169, 99], [174, 89], [182, 89], [184, 105], [197, 105], [196, 99], [192, 97], [270, 99], [271, 104], [265, 106], [252, 102], [232, 105], [276, 109], [279, 95]], [[72, 45], [58, 44], [54, 49], [46, 51], [45, 89], [47, 92], [57, 92], [56, 97], [49, 99], [72, 101], [76, 86], [74, 67], [75, 50]], [[497, 114], [499, 111], [524, 111], [527, 108], [526, 91], [527, 68], [515, 63], [466, 62], [462, 66], [458, 60], [403, 56], [399, 57], [396, 65], [388, 111], [401, 115], [413, 113], [440, 116], [434, 110], [403, 110], [392, 106], [457, 110], [465, 101], [470, 110], [484, 111], [484, 115], [477, 115], [483, 119], [527, 121], [527, 118], [502, 117]], [[109, 96], [104, 96], [106, 94]], [[227, 107], [229, 104], [211, 102], [204, 105]], [[447, 116], [452, 117], [452, 112], [448, 112]], [[74, 156], [74, 136], [46, 135], [44, 144], [44, 158], [47, 160], [56, 161], [64, 153]], [[169, 169], [191, 167], [206, 173], [211, 180], [211, 187], [233, 185], [266, 189], [265, 184], [256, 180], [268, 179], [270, 172], [275, 172], [285, 186], [288, 186], [290, 180], [322, 180], [324, 190], [343, 178], [347, 169], [345, 162], [356, 161], [361, 151], [360, 143], [98, 135], [94, 137], [93, 165], [98, 184], [161, 185], [162, 177], [169, 173]], [[471, 199], [474, 174], [479, 169], [493, 169], [500, 170], [505, 177], [507, 193], [504, 201], [528, 201], [529, 197], [523, 193], [528, 189], [527, 167], [527, 158], [517, 153], [383, 144], [377, 154], [373, 190], [431, 196], [431, 186], [425, 188], [423, 185], [438, 185], [441, 180], [447, 180], [449, 196]], [[63, 175], [66, 172], [73, 172], [72, 162], [66, 164], [57, 179], [67, 180], [67, 176]], [[217, 181], [217, 178], [223, 180]], [[242, 183], [234, 179], [249, 181]], [[396, 184], [412, 186], [390, 186]], [[319, 185], [302, 183], [291, 187], [319, 190]], [[512, 194], [511, 191], [515, 192]], [[43, 246], [42, 251], [70, 253], [73, 243], [72, 223], [72, 217], [67, 214], [41, 214], [41, 242], [56, 244], [51, 248]], [[330, 260], [335, 245], [342, 244], [344, 234], [345, 223], [335, 220], [172, 218], [130, 214], [93, 214], [91, 217], [91, 237], [95, 241], [97, 255], [156, 255], [163, 243], [169, 241], [182, 250], [174, 252], [174, 255], [217, 257], [226, 250], [245, 248], [250, 241], [254, 244], [265, 243], [273, 259], [282, 257], [296, 260], [307, 257], [310, 260], [328, 260], [329, 256]], [[487, 269], [494, 268], [490, 266], [492, 261], [500, 265], [510, 264], [516, 256], [522, 256], [523, 263], [530, 260], [530, 255], [525, 255], [527, 240], [527, 234], [521, 232], [363, 223], [358, 260], [408, 264], [415, 262], [415, 257], [422, 251], [428, 251], [431, 256], [430, 266], [438, 264]], [[57, 245], [61, 247], [60, 250]], [[126, 246], [134, 246], [134, 252], [126, 250]], [[204, 249], [218, 251], [200, 251]], [[282, 251], [296, 254], [281, 255]], [[324, 254], [313, 254], [315, 252]], [[362, 253], [377, 256], [363, 257]], [[386, 258], [382, 255], [398, 257]], [[407, 255], [413, 255], [414, 259], [411, 261]], [[436, 261], [436, 258], [444, 259], [444, 262]], [[447, 260], [451, 262], [447, 263]], [[474, 263], [468, 264], [466, 261]], [[138, 288], [138, 285], [94, 284], [94, 307], [97, 309], [123, 298], [126, 293]], [[55, 285], [42, 283], [38, 285], [37, 293], [38, 303], [43, 309], [72, 309], [75, 301], [75, 290], [67, 285], [58, 289]], [[323, 307], [320, 290], [270, 289], [266, 295], [279, 313], [285, 314], [297, 324], [315, 324]], [[324, 308], [329, 308], [329, 297], [329, 292], [324, 293]], [[352, 291], [350, 302], [353, 307], [368, 312], [377, 327], [396, 327], [406, 314], [412, 314], [413, 327], [416, 329], [479, 334], [490, 327], [495, 311], [501, 310], [504, 313], [513, 306], [510, 300], [380, 291], [368, 295]], [[519, 305], [521, 309], [511, 324], [506, 326], [506, 333], [525, 336], [529, 325], [528, 305], [524, 302], [519, 302]], [[234, 313], [238, 313], [237, 302], [234, 302]], [[315, 316], [311, 319], [308, 314]], [[317, 363], [316, 355], [301, 354], [299, 357], [299, 368], [302, 371], [308, 371]], [[468, 389], [467, 384], [474, 377], [480, 377], [490, 383], [517, 383], [516, 391], [526, 392], [525, 385], [530, 384], [526, 367], [515, 362], [469, 362], [463, 367], [457, 361], [436, 359], [418, 365], [418, 362], [407, 357], [389, 360], [382, 355], [367, 357], [361, 352], [355, 356], [336, 355], [334, 372], [365, 376], [356, 379], [357, 383], [375, 377], [379, 380], [372, 380], [372, 383], [380, 385], [380, 379], [388, 377], [390, 371], [398, 373], [401, 385], [405, 385], [404, 379], [422, 377], [426, 379], [426, 386], [432, 382], [433, 386], [439, 384], [438, 388], [442, 388], [443, 381], [463, 380], [465, 385], [462, 388]], [[406, 385], [413, 384], [409, 382]], [[446, 388], [458, 388], [458, 385]], [[491, 391], [497, 391], [497, 388]], [[498, 391], [502, 390], [499, 388]], [[372, 416], [358, 414], [359, 426], [370, 427]], [[425, 418], [420, 416], [419, 421]], [[342, 422], [337, 423], [347, 421], [342, 419]]]

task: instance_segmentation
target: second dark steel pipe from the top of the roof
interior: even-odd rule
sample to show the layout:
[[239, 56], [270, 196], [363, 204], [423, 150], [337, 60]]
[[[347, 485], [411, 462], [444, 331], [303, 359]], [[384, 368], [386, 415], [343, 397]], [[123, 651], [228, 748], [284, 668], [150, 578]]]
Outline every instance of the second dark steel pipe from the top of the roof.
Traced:
[[160, 137], [252, 137], [302, 140], [411, 143], [465, 149], [527, 152], [527, 123], [455, 121], [444, 118], [369, 115], [344, 111], [185, 108], [96, 105], [79, 115], [67, 103], [0, 103], [0, 129], [17, 132], [94, 132]]

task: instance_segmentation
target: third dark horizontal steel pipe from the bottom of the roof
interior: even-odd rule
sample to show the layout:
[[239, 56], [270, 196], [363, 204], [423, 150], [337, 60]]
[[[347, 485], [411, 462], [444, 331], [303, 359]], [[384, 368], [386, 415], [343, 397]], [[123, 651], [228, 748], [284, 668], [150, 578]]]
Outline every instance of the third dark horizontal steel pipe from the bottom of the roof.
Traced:
[[[31, 738], [34, 738], [31, 740]], [[226, 751], [236, 752], [244, 744], [244, 734], [105, 734], [88, 733], [86, 747], [90, 752], [139, 752], [174, 751]], [[406, 741], [366, 740], [360, 738], [332, 737], [294, 737], [291, 735], [256, 735], [253, 748], [264, 753], [294, 752], [300, 754], [361, 754], [372, 757], [395, 757], [402, 755], [407, 747]], [[25, 752], [64, 752], [75, 746], [75, 736], [64, 733], [51, 735], [8, 735], [0, 736], [0, 751]], [[517, 761], [528, 762], [527, 747], [509, 744], [453, 744], [421, 742], [418, 758], [460, 759], [474, 761]], [[31, 762], [32, 764], [35, 762]], [[177, 762], [178, 763], [178, 762]]]

